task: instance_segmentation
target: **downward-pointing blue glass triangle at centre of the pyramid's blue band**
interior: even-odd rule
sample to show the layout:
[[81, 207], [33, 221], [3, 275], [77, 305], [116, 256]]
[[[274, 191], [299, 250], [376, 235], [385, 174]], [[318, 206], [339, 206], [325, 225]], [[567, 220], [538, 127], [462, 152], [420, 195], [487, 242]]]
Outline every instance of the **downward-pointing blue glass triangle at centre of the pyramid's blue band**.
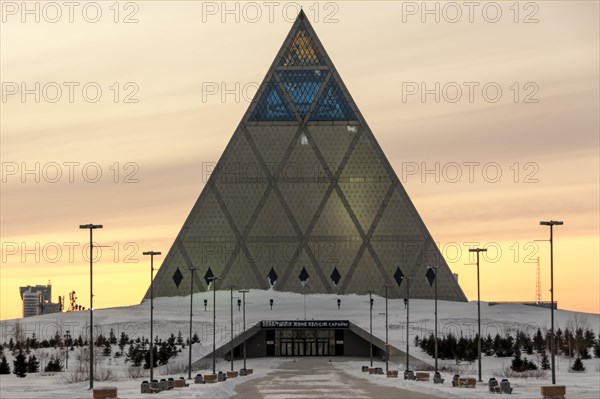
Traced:
[[325, 74], [325, 71], [319, 70], [279, 72], [281, 81], [302, 118], [315, 100]]

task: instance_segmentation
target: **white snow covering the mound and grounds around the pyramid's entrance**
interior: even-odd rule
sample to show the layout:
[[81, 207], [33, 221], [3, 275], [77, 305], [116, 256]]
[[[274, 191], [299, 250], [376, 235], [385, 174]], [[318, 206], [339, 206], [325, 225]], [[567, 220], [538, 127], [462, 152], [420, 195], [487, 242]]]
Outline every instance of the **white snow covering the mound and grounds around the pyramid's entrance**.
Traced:
[[[242, 331], [242, 312], [238, 310], [237, 299], [241, 294], [234, 291], [234, 328], [233, 334]], [[341, 309], [337, 308], [337, 298], [341, 299]], [[207, 310], [204, 310], [204, 299], [208, 300]], [[273, 309], [270, 309], [269, 300], [273, 299]], [[306, 306], [304, 305], [306, 303]], [[166, 339], [171, 333], [177, 335], [181, 331], [184, 339], [189, 334], [189, 297], [157, 298], [154, 301], [154, 334]], [[413, 344], [414, 337], [428, 336], [433, 331], [433, 308], [431, 300], [411, 300], [410, 303], [410, 353], [428, 363], [433, 364], [433, 359], [416, 348]], [[404, 350], [406, 347], [406, 310], [402, 299], [390, 299], [389, 309], [389, 340], [397, 348]], [[369, 328], [369, 305], [368, 296], [365, 295], [311, 295], [304, 297], [300, 294], [284, 293], [278, 291], [252, 290], [246, 294], [246, 326], [250, 328], [261, 320], [349, 320], [365, 330]], [[376, 336], [385, 338], [385, 300], [375, 297], [373, 309], [373, 332]], [[477, 331], [477, 303], [457, 303], [440, 301], [438, 303], [439, 334], [440, 336], [449, 332], [457, 336], [461, 334], [472, 337]], [[99, 309], [94, 313], [95, 334], [108, 335], [112, 328], [117, 337], [121, 332], [126, 332], [130, 338], [138, 336], [149, 336], [150, 319], [149, 301], [137, 306]], [[193, 359], [200, 359], [210, 353], [212, 349], [212, 292], [194, 295], [194, 327], [193, 331], [198, 334], [202, 343], [193, 345]], [[56, 332], [63, 335], [69, 330], [74, 338], [82, 335], [87, 337], [88, 312], [62, 313], [31, 317], [27, 319], [5, 320], [0, 322], [0, 342], [8, 342], [14, 338], [17, 325], [28, 335], [35, 333], [38, 340], [49, 339]], [[517, 330], [524, 331], [530, 335], [535, 333], [538, 327], [543, 331], [549, 328], [550, 310], [525, 305], [496, 305], [488, 306], [481, 304], [482, 335], [490, 334], [492, 337], [499, 333], [505, 335]], [[577, 313], [564, 310], [555, 311], [557, 328], [578, 325], [590, 327], [598, 334], [600, 332], [600, 315]], [[217, 347], [225, 344], [231, 337], [230, 328], [230, 292], [217, 292], [217, 323], [216, 341]], [[5, 350], [12, 367], [12, 356]], [[166, 378], [169, 376], [178, 378], [185, 376], [185, 365], [187, 365], [187, 348], [176, 358], [171, 359], [169, 364], [160, 366], [155, 371], [155, 377]], [[75, 360], [69, 360], [69, 369], [66, 372], [54, 375], [31, 374], [24, 379], [17, 378], [14, 374], [0, 376], [0, 398], [81, 398], [91, 397], [86, 389], [87, 382], [66, 383], [65, 376], [73, 369]], [[536, 355], [527, 356], [531, 360], [537, 360]], [[38, 356], [39, 358], [39, 356]], [[110, 385], [119, 389], [119, 397], [134, 398], [145, 397], [139, 391], [140, 383], [147, 377], [130, 378], [128, 376], [128, 364], [123, 362], [124, 358], [100, 356], [100, 367], [110, 370], [116, 380], [107, 382], [96, 382], [96, 386]], [[594, 358], [584, 360], [586, 371], [584, 373], [569, 372], [569, 359], [557, 358], [557, 382], [567, 386], [567, 397], [571, 398], [596, 398], [600, 394], [600, 359]], [[395, 385], [405, 389], [429, 392], [442, 397], [488, 397], [494, 396], [487, 392], [483, 386], [474, 390], [452, 388], [450, 380], [455, 373], [461, 376], [476, 376], [477, 364], [456, 364], [454, 361], [440, 360], [440, 368], [446, 367], [443, 373], [446, 382], [443, 385], [433, 383], [404, 381], [399, 379], [388, 379], [383, 376], [368, 376], [360, 371], [360, 366], [368, 363], [368, 359], [350, 360], [333, 359], [336, 369], [347, 372], [357, 378], [369, 378], [385, 385]], [[383, 365], [379, 359], [378, 365]], [[395, 359], [394, 359], [395, 360]], [[264, 377], [270, 371], [276, 369], [281, 362], [289, 361], [282, 358], [249, 359], [248, 367], [254, 368], [255, 374], [246, 378], [237, 378], [225, 383], [213, 385], [194, 385], [181, 390], [162, 392], [164, 397], [211, 397], [225, 398], [232, 395], [235, 385], [254, 379]], [[400, 364], [393, 363], [391, 369], [404, 370], [403, 358]], [[510, 365], [511, 358], [483, 357], [483, 380], [489, 377], [501, 377]], [[229, 362], [219, 361], [219, 370], [229, 370]], [[235, 362], [235, 368], [242, 367], [241, 361]], [[203, 371], [200, 371], [203, 372]], [[550, 384], [550, 372], [541, 378], [515, 379], [510, 378], [515, 388], [513, 395], [522, 398], [539, 398], [539, 387]]]

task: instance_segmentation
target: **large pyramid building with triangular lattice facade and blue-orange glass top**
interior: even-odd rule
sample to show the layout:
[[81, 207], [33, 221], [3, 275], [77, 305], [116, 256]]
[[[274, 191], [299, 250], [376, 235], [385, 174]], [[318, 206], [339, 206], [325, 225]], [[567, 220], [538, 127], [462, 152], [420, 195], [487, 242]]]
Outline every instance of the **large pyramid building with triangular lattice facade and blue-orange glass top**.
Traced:
[[410, 276], [411, 298], [433, 298], [429, 266], [439, 266], [440, 299], [466, 300], [300, 12], [164, 258], [154, 295], [206, 291], [216, 276], [216, 289], [364, 294], [387, 284], [398, 298]]

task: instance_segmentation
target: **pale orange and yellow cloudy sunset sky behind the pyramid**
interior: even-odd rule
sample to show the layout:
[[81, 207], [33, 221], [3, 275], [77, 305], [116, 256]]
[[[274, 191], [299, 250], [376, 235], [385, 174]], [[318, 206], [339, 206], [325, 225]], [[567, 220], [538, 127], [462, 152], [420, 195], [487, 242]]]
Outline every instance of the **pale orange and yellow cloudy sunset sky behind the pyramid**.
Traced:
[[549, 300], [555, 219], [555, 299], [600, 312], [598, 2], [76, 3], [0, 3], [0, 319], [48, 280], [87, 308], [84, 223], [95, 307], [140, 302], [297, 4], [468, 299], [477, 243], [482, 300], [535, 300], [537, 257]]

